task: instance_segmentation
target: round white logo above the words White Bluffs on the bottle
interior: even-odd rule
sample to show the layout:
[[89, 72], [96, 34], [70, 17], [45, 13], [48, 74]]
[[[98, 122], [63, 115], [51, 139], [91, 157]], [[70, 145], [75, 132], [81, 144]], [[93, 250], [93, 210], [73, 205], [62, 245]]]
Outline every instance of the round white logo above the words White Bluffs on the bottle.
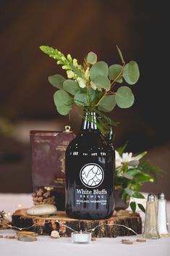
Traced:
[[88, 188], [96, 188], [103, 182], [104, 172], [100, 165], [89, 163], [80, 170], [80, 180]]

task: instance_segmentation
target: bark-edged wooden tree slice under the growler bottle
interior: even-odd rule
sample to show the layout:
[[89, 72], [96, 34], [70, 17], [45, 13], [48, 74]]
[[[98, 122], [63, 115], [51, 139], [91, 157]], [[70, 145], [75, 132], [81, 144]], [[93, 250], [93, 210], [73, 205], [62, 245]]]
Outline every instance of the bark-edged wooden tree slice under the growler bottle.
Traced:
[[[102, 224], [102, 225], [101, 225]], [[26, 228], [25, 231], [35, 231], [39, 235], [50, 235], [51, 231], [59, 231], [60, 236], [71, 236], [72, 228], [74, 231], [87, 231], [93, 229], [93, 237], [116, 237], [134, 235], [123, 226], [113, 226], [106, 224], [119, 224], [132, 228], [137, 234], [142, 232], [142, 220], [138, 213], [132, 214], [129, 211], [119, 211], [116, 215], [106, 220], [77, 220], [67, 217], [65, 212], [57, 212], [50, 216], [27, 215], [27, 209], [17, 210], [12, 215], [12, 226]], [[66, 226], [69, 226], [67, 228]]]

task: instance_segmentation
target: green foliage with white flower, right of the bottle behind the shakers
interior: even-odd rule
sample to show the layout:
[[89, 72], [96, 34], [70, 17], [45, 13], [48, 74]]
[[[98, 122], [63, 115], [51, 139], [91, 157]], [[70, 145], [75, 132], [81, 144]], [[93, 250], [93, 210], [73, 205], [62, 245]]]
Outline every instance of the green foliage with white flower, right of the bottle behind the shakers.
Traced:
[[[116, 149], [120, 157], [123, 156], [126, 146], [127, 144], [124, 144], [124, 146]], [[145, 199], [143, 194], [140, 193], [140, 187], [143, 186], [143, 183], [153, 183], [156, 180], [156, 176], [162, 171], [157, 166], [150, 165], [146, 160], [140, 162], [140, 159], [143, 158], [145, 154], [147, 154], [147, 152], [137, 154], [132, 160], [122, 162], [122, 164], [116, 168], [115, 186], [122, 189], [122, 199], [124, 202], [127, 202], [127, 197], [132, 199], [130, 203], [132, 212], [136, 211], [137, 206], [140, 210], [145, 212], [143, 205], [137, 203], [135, 199]]]

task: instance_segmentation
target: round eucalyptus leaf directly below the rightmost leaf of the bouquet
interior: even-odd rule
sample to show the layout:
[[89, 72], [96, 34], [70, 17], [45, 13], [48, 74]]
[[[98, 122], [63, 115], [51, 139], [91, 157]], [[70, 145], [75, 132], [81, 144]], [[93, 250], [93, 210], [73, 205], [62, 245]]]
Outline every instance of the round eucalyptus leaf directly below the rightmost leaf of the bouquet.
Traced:
[[134, 95], [132, 94], [132, 90], [127, 86], [119, 87], [116, 91], [116, 104], [121, 108], [131, 107], [134, 103]]

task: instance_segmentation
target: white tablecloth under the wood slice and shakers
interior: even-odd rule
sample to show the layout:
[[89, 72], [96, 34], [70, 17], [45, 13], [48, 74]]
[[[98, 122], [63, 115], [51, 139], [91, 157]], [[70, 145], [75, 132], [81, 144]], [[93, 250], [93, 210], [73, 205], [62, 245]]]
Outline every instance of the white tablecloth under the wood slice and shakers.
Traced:
[[[32, 206], [30, 194], [0, 194], [0, 210], [5, 210], [9, 215], [18, 208]], [[167, 203], [168, 218], [170, 219], [170, 202]], [[144, 215], [142, 215], [144, 218]], [[15, 234], [13, 230], [0, 231], [0, 235]], [[134, 244], [122, 244], [122, 237], [102, 238], [90, 244], [72, 244], [70, 238], [51, 239], [50, 236], [38, 236], [38, 241], [24, 242], [16, 239], [0, 239], [0, 256], [169, 256], [170, 237], [157, 240], [147, 240], [137, 243], [137, 236], [123, 237], [131, 239]]]

